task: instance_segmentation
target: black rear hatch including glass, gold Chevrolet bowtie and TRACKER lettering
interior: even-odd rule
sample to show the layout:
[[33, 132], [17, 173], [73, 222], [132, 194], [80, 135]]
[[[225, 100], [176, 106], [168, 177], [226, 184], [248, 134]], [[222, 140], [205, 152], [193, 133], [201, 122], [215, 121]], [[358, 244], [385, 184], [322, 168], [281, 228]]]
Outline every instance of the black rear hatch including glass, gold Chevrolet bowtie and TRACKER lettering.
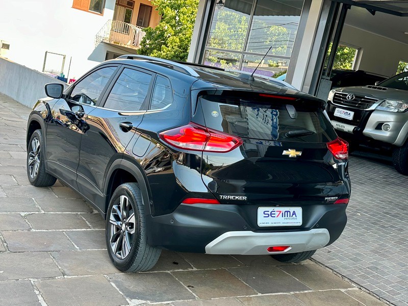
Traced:
[[242, 140], [229, 152], [202, 154], [202, 180], [220, 203], [299, 206], [345, 196], [347, 163], [328, 149], [338, 138], [320, 101], [218, 93], [199, 96], [192, 121]]

